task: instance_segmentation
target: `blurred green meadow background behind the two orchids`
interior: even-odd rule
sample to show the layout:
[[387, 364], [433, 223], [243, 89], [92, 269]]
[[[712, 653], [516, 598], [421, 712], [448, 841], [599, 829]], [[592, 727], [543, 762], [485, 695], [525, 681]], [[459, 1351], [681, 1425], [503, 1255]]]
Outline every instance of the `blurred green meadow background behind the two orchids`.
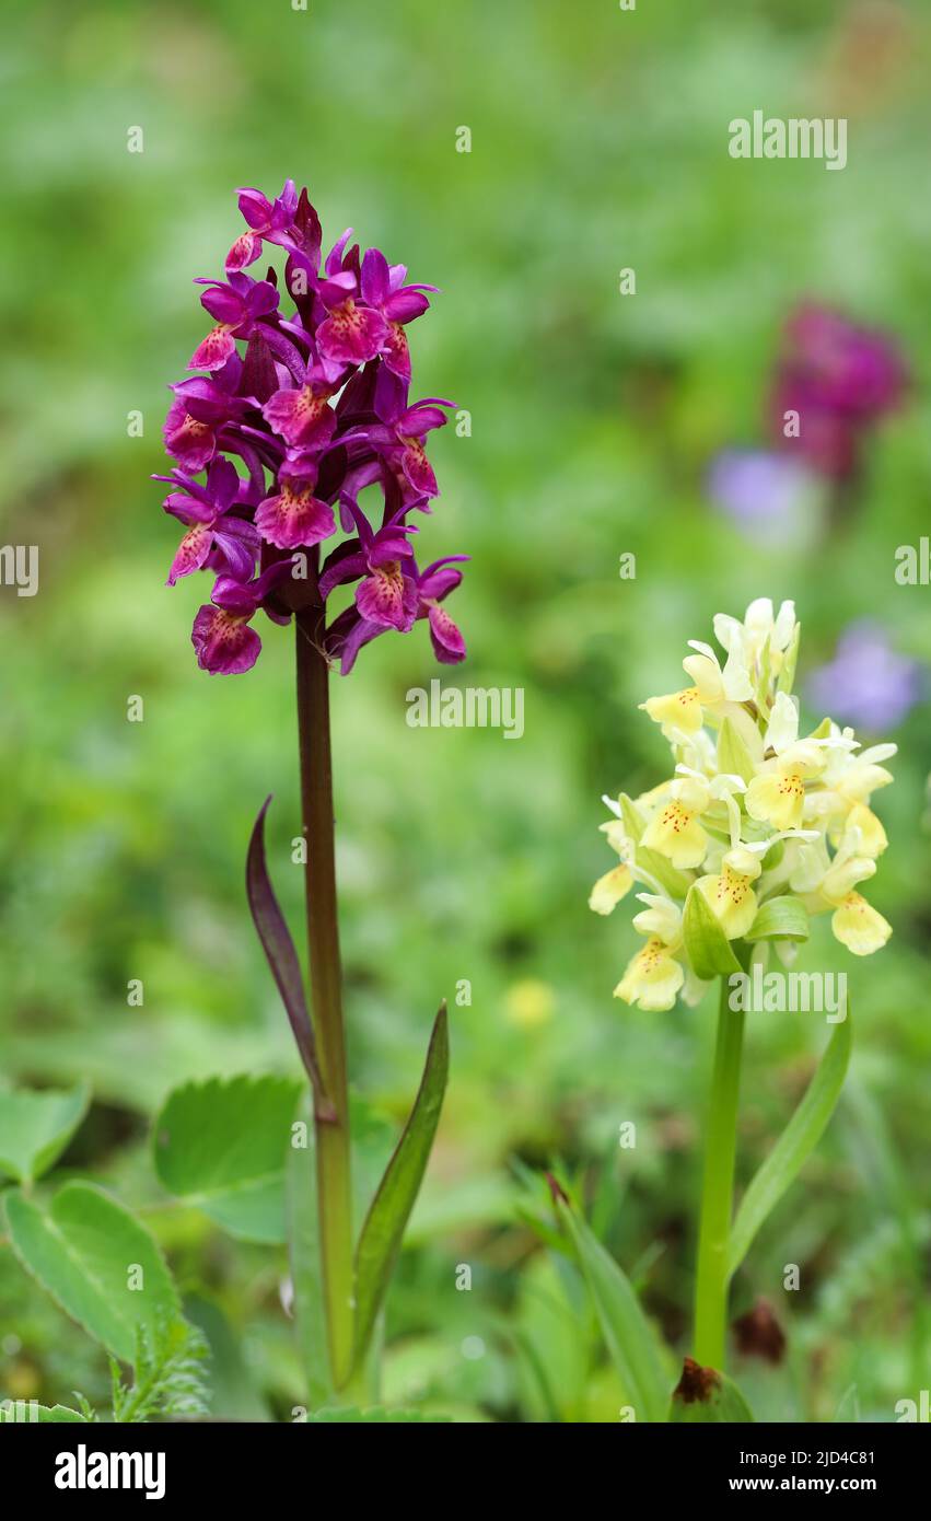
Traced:
[[[926, 6], [891, 0], [8, 5], [0, 537], [38, 543], [41, 580], [32, 599], [0, 589], [2, 1065], [93, 1083], [65, 1164], [149, 1206], [211, 1328], [218, 1413], [286, 1418], [303, 1395], [283, 1256], [160, 1211], [146, 1156], [172, 1084], [297, 1068], [243, 894], [272, 791], [272, 875], [300, 922], [292, 639], [263, 622], [249, 677], [196, 669], [208, 583], [164, 587], [176, 532], [148, 479], [166, 467], [164, 388], [204, 332], [190, 280], [222, 269], [240, 228], [234, 189], [277, 193], [291, 175], [329, 242], [351, 224], [441, 286], [411, 329], [414, 391], [472, 412], [472, 437], [434, 435], [443, 497], [421, 540], [426, 558], [473, 557], [453, 605], [467, 666], [438, 672], [418, 625], [333, 681], [351, 1072], [386, 1115], [405, 1112], [440, 998], [472, 984], [385, 1395], [459, 1419], [616, 1419], [589, 1311], [522, 1223], [511, 1164], [578, 1170], [688, 1351], [713, 1010], [612, 999], [636, 935], [627, 905], [587, 908], [612, 864], [599, 797], [665, 776], [636, 704], [682, 684], [685, 642], [709, 639], [718, 610], [794, 598], [802, 689], [860, 618], [931, 660], [931, 592], [893, 578], [896, 546], [928, 531], [929, 32]], [[846, 170], [732, 161], [727, 123], [755, 108], [847, 116]], [[625, 266], [636, 297], [618, 294]], [[815, 503], [761, 543], [713, 506], [706, 473], [764, 441], [802, 295], [888, 330], [914, 388], [867, 446], [843, 532]], [[636, 581], [619, 578], [625, 551]], [[409, 729], [405, 694], [437, 674], [523, 687], [523, 739]], [[741, 1373], [780, 1421], [831, 1419], [852, 1386], [864, 1418], [894, 1419], [929, 1377], [926, 703], [870, 738], [901, 747], [870, 888], [894, 938], [855, 961], [820, 922], [803, 954], [850, 976], [852, 1078], [735, 1288], [736, 1313], [765, 1294], [786, 1328], [786, 1364]], [[126, 1005], [132, 978], [143, 1008]], [[741, 1179], [825, 1036], [753, 1022]], [[796, 1294], [785, 1262], [802, 1265]], [[0, 1328], [0, 1390], [94, 1396], [102, 1358], [3, 1250]]]

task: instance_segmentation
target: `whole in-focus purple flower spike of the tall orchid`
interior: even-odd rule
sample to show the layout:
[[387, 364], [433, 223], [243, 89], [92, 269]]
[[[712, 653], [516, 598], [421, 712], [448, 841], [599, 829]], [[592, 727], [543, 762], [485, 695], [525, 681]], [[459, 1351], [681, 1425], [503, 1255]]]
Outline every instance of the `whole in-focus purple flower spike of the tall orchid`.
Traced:
[[[408, 395], [406, 329], [437, 286], [409, 281], [377, 248], [362, 251], [351, 228], [321, 268], [319, 218], [292, 179], [274, 199], [240, 189], [239, 210], [245, 231], [224, 277], [196, 281], [214, 325], [189, 364], [199, 373], [170, 386], [164, 441], [175, 468], [155, 478], [170, 487], [164, 508], [184, 528], [169, 586], [199, 569], [216, 573], [195, 621], [198, 663], [248, 671], [260, 649], [249, 627], [257, 611], [274, 622], [309, 604], [326, 613], [330, 593], [348, 584], [353, 604], [324, 618], [319, 636], [344, 674], [371, 639], [418, 621], [440, 662], [462, 660], [444, 602], [469, 557], [418, 570], [408, 520], [438, 496], [426, 441], [452, 408]], [[274, 268], [246, 274], [263, 249], [283, 251], [283, 281]], [[294, 590], [283, 586], [289, 575]]]

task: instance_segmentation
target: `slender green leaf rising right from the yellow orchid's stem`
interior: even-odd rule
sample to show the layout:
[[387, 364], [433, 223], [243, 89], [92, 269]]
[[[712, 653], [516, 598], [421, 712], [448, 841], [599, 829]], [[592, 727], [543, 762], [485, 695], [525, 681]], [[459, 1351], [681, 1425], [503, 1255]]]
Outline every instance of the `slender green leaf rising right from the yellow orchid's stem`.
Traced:
[[850, 1042], [850, 1008], [847, 1005], [847, 1018], [834, 1027], [834, 1034], [808, 1084], [805, 1098], [741, 1200], [741, 1208], [730, 1227], [729, 1275], [733, 1275], [741, 1265], [764, 1220], [779, 1203], [821, 1139], [844, 1084]]

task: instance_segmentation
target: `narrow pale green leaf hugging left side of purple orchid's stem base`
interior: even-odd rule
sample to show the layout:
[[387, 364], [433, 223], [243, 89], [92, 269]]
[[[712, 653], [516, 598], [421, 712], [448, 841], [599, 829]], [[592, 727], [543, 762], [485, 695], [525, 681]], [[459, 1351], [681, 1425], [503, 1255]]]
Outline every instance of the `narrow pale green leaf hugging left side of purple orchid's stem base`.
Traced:
[[297, 1340], [312, 1405], [333, 1398], [327, 1323], [324, 1313], [323, 1269], [319, 1259], [319, 1221], [316, 1218], [316, 1144], [310, 1095], [306, 1094], [298, 1118], [306, 1126], [307, 1145], [288, 1148], [288, 1244]]

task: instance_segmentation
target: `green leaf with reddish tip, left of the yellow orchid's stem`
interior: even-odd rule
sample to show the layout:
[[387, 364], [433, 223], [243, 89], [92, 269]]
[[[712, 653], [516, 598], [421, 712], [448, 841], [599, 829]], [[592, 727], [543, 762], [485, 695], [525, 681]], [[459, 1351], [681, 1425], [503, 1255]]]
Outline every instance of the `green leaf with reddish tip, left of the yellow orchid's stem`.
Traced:
[[578, 1253], [601, 1334], [637, 1421], [665, 1421], [669, 1386], [653, 1326], [628, 1278], [570, 1205], [558, 1200], [555, 1208]]

